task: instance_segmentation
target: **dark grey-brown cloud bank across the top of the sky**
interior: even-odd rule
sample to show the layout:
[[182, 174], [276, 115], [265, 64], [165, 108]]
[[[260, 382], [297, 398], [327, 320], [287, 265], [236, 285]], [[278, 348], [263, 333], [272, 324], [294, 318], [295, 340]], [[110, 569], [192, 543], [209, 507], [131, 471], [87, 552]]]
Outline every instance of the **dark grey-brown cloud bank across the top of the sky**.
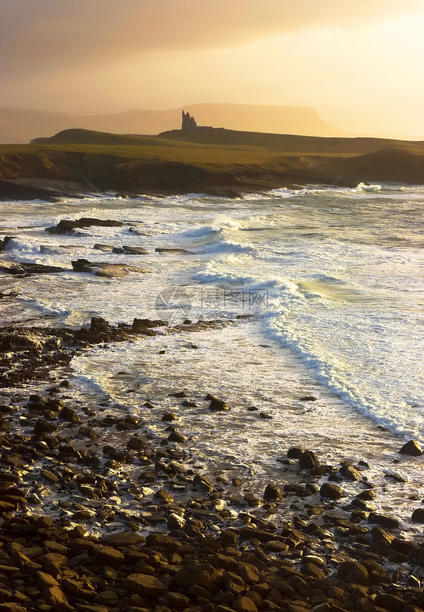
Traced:
[[128, 56], [225, 48], [279, 32], [418, 10], [422, 0], [1, 0], [3, 78], [93, 70]]

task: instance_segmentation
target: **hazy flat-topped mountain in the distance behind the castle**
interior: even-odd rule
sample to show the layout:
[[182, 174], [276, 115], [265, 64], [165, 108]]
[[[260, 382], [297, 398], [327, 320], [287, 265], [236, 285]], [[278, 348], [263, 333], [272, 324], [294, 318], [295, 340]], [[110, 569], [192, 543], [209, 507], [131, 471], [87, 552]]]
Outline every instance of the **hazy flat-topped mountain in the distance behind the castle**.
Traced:
[[[181, 108], [165, 111], [134, 110], [125, 113], [76, 116], [53, 111], [0, 108], [0, 143], [27, 143], [71, 128], [120, 134], [158, 134], [180, 129]], [[307, 136], [353, 136], [330, 125], [307, 106], [265, 106], [207, 103], [184, 106], [197, 125], [228, 130]]]

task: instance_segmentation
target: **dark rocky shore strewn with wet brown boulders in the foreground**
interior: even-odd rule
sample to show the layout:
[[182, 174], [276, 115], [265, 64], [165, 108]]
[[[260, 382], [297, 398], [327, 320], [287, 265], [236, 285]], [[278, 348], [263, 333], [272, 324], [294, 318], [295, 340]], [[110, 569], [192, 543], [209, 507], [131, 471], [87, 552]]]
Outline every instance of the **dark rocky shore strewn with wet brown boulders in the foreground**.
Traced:
[[[223, 326], [93, 318], [1, 330], [0, 611], [424, 610], [424, 509], [417, 499], [406, 517], [415, 531], [379, 512], [365, 461], [323, 465], [288, 446], [258, 494], [253, 475], [192, 459], [178, 410], [194, 393], [169, 389], [175, 411], [159, 435], [108, 401], [76, 398], [78, 351]], [[231, 409], [204, 401], [217, 417]], [[416, 461], [422, 449], [401, 452]]]

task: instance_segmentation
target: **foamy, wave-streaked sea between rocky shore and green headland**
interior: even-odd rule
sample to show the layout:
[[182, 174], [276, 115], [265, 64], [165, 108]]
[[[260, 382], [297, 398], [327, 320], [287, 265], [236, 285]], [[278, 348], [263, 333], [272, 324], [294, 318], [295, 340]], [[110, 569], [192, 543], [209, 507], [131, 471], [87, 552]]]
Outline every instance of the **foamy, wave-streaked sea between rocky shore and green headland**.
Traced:
[[[45, 231], [81, 217], [124, 225]], [[71, 362], [76, 401], [142, 417], [159, 437], [163, 413], [176, 412], [205, 474], [231, 466], [258, 487], [282, 484], [279, 460], [299, 446], [323, 463], [367, 464], [381, 512], [410, 517], [424, 498], [422, 458], [398, 453], [409, 439], [424, 443], [423, 186], [7, 201], [4, 235], [13, 239], [1, 259], [65, 271], [2, 275], [0, 291], [18, 293], [0, 302], [2, 326], [222, 323], [82, 351]], [[147, 272], [98, 277], [73, 271], [78, 258]], [[181, 391], [194, 406], [172, 395]], [[211, 412], [207, 394], [232, 410]]]

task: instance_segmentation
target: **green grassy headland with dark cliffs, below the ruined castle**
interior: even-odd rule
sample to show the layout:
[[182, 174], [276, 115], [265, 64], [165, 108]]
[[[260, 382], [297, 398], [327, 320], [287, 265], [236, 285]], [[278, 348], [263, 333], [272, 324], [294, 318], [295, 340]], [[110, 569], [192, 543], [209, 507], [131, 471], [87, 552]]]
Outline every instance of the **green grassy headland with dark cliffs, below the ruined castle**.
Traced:
[[360, 181], [422, 184], [423, 155], [423, 142], [382, 138], [221, 129], [138, 136], [72, 129], [31, 144], [0, 145], [0, 177], [27, 186], [31, 179], [87, 179], [98, 190], [127, 193], [239, 193]]

